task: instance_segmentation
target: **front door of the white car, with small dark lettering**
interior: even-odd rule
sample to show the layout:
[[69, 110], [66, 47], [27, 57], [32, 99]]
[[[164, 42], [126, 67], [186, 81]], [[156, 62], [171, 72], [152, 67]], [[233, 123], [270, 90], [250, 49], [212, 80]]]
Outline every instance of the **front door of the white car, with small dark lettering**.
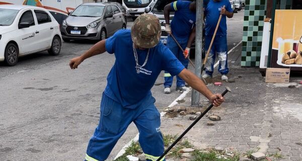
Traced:
[[[30, 26], [20, 28], [21, 23], [29, 23]], [[31, 10], [23, 12], [18, 22], [18, 33], [16, 33], [20, 55], [39, 50], [38, 34], [33, 12]]]

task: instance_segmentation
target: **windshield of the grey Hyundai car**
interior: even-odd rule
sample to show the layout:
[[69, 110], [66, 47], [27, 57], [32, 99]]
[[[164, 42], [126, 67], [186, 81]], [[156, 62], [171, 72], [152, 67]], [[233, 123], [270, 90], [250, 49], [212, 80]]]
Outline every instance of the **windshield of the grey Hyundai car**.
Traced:
[[75, 17], [101, 17], [105, 6], [82, 5], [75, 9], [70, 16]]

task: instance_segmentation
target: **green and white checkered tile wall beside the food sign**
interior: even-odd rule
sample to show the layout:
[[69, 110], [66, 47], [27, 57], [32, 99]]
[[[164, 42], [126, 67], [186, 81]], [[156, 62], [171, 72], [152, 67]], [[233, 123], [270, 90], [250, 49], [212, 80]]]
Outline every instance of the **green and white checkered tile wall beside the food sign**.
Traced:
[[[291, 9], [292, 0], [278, 0], [276, 9]], [[246, 0], [241, 66], [259, 66], [266, 0]]]

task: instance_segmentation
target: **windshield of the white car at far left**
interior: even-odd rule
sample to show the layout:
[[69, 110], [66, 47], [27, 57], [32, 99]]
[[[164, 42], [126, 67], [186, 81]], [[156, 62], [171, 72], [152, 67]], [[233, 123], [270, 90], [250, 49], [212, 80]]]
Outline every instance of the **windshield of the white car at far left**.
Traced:
[[10, 26], [14, 22], [19, 10], [0, 9], [0, 26]]

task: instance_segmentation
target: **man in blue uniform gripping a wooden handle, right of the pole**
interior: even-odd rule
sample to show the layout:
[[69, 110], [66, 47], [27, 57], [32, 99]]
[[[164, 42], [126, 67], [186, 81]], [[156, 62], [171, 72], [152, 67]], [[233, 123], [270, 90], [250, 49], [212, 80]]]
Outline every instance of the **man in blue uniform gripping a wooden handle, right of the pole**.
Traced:
[[[225, 8], [223, 8], [225, 6]], [[222, 15], [212, 47], [209, 49], [219, 16]], [[221, 73], [221, 80], [228, 81], [228, 43], [226, 42], [226, 17], [234, 15], [229, 0], [210, 0], [205, 8], [205, 50], [210, 50], [205, 63], [205, 74], [203, 78], [212, 78], [214, 71], [215, 55], [219, 58], [218, 72]]]

